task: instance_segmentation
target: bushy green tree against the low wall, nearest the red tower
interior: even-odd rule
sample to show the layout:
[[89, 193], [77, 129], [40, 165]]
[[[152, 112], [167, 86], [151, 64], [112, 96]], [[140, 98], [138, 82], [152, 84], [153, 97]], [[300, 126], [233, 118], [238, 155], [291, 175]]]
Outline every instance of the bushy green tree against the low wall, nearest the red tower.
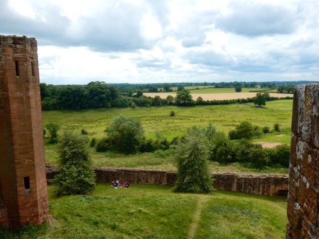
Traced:
[[89, 158], [88, 138], [66, 131], [58, 144], [59, 174], [51, 180], [58, 196], [88, 194], [95, 188], [95, 173]]

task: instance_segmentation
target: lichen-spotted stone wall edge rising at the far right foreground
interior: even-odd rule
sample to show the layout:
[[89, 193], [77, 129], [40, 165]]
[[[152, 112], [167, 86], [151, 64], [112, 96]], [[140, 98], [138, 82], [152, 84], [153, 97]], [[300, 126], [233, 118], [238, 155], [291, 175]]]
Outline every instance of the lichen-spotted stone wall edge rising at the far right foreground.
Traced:
[[295, 88], [287, 239], [319, 238], [319, 84]]

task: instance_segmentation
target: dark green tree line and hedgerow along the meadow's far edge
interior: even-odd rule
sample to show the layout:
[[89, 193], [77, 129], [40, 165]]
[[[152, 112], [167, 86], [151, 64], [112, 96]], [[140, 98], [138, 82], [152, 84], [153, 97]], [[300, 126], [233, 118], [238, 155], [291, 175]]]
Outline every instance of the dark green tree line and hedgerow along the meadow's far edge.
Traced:
[[[125, 108], [148, 107], [148, 106], [194, 106], [194, 105], [228, 105], [255, 103], [265, 105], [266, 101], [278, 100], [277, 97], [270, 97], [268, 93], [257, 94], [254, 98], [236, 100], [207, 100], [201, 97], [192, 99], [189, 90], [180, 87], [177, 89], [176, 96], [167, 96], [166, 99], [160, 96], [147, 97], [144, 91], [139, 89], [134, 91], [128, 88], [127, 92], [120, 92], [115, 86], [108, 86], [104, 82], [90, 82], [86, 86], [54, 86], [40, 84], [42, 110], [83, 110], [96, 108]], [[292, 99], [286, 97], [284, 99]]]

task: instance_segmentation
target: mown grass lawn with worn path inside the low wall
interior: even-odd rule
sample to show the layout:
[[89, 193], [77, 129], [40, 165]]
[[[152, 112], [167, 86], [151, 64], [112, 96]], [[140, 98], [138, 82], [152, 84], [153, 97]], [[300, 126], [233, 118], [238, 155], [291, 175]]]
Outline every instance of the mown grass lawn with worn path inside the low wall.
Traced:
[[174, 194], [168, 186], [113, 189], [103, 183], [89, 196], [57, 198], [52, 186], [48, 192], [48, 229], [20, 238], [284, 239], [288, 222], [281, 197], [226, 191]]

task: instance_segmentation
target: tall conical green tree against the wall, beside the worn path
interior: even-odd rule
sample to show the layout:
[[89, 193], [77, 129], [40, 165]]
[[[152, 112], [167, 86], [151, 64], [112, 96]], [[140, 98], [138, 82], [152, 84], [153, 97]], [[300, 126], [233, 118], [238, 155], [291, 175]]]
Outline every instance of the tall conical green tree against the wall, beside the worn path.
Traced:
[[193, 128], [175, 148], [177, 180], [174, 192], [210, 193], [212, 177], [208, 168], [208, 139], [198, 128]]

